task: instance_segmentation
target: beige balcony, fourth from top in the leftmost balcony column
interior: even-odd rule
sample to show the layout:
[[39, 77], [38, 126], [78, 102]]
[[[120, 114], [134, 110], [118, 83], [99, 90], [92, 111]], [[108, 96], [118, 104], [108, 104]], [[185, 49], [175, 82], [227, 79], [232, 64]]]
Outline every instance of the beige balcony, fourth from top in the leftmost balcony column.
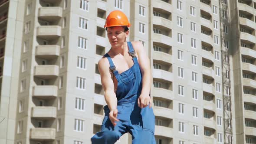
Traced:
[[37, 65], [34, 76], [41, 79], [53, 79], [59, 76], [58, 65]]

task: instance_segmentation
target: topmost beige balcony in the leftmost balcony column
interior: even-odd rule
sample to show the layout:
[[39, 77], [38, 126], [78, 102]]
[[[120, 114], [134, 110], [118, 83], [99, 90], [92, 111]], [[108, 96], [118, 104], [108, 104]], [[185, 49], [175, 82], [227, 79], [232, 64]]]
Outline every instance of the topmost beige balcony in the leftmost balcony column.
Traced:
[[38, 18], [46, 21], [59, 20], [62, 17], [61, 7], [40, 7]]

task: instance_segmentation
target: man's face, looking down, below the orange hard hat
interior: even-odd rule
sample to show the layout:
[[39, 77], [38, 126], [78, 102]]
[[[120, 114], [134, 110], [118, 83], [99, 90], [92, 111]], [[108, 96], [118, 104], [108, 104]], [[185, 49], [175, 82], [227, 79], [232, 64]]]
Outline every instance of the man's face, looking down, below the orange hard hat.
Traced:
[[108, 41], [112, 47], [122, 46], [125, 42], [125, 38], [128, 37], [129, 31], [125, 32], [125, 28], [122, 26], [108, 27]]

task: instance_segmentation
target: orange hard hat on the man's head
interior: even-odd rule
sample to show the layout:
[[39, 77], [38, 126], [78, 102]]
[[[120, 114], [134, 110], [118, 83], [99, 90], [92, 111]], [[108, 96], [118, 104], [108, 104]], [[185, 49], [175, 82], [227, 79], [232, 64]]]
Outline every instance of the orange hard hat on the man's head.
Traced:
[[125, 16], [125, 13], [121, 12], [120, 10], [114, 10], [111, 13], [109, 13], [108, 17], [106, 18], [105, 26], [130, 26], [130, 23], [128, 21], [127, 16]]

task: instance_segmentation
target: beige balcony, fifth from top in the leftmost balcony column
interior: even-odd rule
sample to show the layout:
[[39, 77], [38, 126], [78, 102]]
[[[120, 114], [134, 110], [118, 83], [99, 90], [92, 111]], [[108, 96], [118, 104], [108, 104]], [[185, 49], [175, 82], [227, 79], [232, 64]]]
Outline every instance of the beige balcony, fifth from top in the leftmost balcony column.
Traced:
[[37, 85], [33, 87], [33, 97], [39, 99], [53, 99], [58, 95], [56, 85]]

